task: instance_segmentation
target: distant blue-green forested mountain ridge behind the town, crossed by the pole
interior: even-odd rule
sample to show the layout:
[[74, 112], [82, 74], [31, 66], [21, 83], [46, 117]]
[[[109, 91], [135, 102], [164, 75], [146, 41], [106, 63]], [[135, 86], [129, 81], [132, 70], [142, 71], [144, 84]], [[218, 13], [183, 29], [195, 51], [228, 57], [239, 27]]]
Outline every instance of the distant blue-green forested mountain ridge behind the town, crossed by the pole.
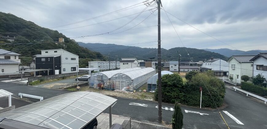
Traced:
[[[122, 57], [136, 57], [139, 60], [143, 60], [150, 57], [157, 57], [157, 49], [155, 48], [141, 48], [135, 46], [124, 46], [124, 45], [116, 45], [116, 44], [102, 44], [102, 43], [82, 43], [78, 42], [80, 46], [88, 48], [92, 51], [100, 52], [104, 55], [108, 55], [110, 53], [110, 59], [114, 60], [115, 55], [118, 58]], [[223, 60], [227, 60], [227, 57], [210, 51], [205, 51], [201, 49], [194, 48], [184, 48], [184, 47], [176, 47], [172, 49], [161, 49], [162, 60], [163, 61], [178, 61], [178, 53], [182, 56], [181, 61], [190, 61], [188, 56], [193, 58], [193, 61], [205, 61], [209, 60], [211, 57], [221, 58]], [[157, 58], [154, 59], [155, 61]]]

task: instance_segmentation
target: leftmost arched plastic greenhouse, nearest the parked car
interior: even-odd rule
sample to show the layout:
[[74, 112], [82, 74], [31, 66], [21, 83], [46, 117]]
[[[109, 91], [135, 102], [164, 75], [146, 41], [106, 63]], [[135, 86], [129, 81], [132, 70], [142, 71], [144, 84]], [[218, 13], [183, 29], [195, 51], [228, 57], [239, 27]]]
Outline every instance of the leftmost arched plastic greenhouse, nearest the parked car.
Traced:
[[128, 72], [141, 69], [139, 67], [137, 68], [125, 68], [125, 69], [118, 69], [118, 70], [110, 70], [110, 71], [104, 71], [104, 72], [96, 72], [93, 73], [89, 79], [89, 84], [91, 87], [98, 88], [98, 84], [103, 84], [103, 88], [105, 89], [114, 89], [114, 84], [110, 83], [110, 78], [114, 76], [117, 73], [121, 72]]

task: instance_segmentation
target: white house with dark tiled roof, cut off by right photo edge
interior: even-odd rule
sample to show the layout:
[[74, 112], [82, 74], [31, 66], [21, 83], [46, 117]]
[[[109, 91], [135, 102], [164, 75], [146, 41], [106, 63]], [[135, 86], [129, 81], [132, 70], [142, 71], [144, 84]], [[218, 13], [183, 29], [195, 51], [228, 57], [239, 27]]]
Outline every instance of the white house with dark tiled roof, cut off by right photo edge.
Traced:
[[267, 78], [267, 53], [260, 53], [250, 61], [253, 61], [253, 76], [262, 74]]

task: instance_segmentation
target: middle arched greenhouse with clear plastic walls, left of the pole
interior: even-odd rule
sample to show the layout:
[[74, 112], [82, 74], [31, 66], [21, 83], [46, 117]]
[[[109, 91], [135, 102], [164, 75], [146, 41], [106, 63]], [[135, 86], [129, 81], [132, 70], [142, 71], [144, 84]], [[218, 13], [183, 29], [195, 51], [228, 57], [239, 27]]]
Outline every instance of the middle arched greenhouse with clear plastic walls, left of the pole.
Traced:
[[142, 68], [128, 72], [117, 73], [110, 78], [115, 90], [134, 91], [156, 73], [153, 68]]

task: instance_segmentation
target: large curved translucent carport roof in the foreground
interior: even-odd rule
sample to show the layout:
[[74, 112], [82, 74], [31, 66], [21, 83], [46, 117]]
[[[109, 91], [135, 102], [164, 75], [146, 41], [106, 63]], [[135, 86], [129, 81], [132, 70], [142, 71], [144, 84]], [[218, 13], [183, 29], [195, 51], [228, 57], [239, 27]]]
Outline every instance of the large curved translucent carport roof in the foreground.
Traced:
[[82, 128], [117, 99], [96, 92], [71, 92], [0, 114], [48, 128]]

